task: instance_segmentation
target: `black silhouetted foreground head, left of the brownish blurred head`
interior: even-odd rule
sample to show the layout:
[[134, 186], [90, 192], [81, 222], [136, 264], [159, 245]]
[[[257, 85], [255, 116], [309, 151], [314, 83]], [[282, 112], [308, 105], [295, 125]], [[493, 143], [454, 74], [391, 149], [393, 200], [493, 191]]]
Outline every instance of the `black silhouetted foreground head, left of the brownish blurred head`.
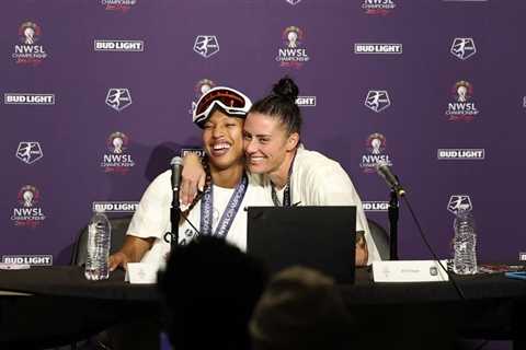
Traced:
[[180, 246], [159, 276], [173, 348], [249, 349], [248, 323], [266, 281], [262, 265], [225, 240]]

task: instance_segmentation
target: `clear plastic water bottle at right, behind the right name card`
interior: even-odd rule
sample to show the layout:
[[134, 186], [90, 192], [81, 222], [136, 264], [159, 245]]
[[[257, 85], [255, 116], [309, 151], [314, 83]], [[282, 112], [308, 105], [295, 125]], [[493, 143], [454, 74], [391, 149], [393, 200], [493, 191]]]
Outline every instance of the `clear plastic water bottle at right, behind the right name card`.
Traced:
[[454, 228], [455, 257], [453, 270], [458, 275], [477, 273], [477, 234], [474, 233], [474, 219], [471, 211], [457, 211]]

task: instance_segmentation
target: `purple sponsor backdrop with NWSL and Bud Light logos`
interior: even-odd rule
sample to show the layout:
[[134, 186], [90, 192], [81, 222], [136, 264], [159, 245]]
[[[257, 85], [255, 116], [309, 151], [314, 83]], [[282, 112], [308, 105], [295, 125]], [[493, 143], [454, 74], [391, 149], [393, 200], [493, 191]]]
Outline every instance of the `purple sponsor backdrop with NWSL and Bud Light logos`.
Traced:
[[[516, 261], [525, 10], [521, 0], [7, 1], [0, 255], [67, 264], [94, 202], [129, 209], [118, 202], [138, 201], [173, 154], [199, 144], [190, 110], [203, 80], [258, 98], [290, 74], [316, 97], [302, 107], [306, 147], [342, 163], [367, 209], [385, 208], [388, 190], [363, 166], [387, 156], [439, 256], [450, 255], [453, 199], [451, 210], [472, 206], [481, 261]], [[142, 43], [108, 51], [99, 40]], [[357, 54], [367, 43], [401, 46]], [[279, 54], [304, 61], [282, 67]], [[459, 108], [478, 114], [449, 120]], [[476, 159], [439, 160], [439, 149]], [[387, 212], [368, 215], [387, 226]], [[400, 221], [401, 257], [430, 258], [403, 205]]]

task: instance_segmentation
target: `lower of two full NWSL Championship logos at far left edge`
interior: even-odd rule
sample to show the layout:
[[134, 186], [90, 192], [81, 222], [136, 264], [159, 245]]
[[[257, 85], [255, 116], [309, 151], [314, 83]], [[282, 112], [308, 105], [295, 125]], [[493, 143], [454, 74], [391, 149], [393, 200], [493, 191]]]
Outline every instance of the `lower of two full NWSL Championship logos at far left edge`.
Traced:
[[15, 226], [37, 228], [46, 219], [41, 206], [41, 194], [33, 185], [25, 185], [19, 190], [19, 206], [13, 208], [11, 220]]

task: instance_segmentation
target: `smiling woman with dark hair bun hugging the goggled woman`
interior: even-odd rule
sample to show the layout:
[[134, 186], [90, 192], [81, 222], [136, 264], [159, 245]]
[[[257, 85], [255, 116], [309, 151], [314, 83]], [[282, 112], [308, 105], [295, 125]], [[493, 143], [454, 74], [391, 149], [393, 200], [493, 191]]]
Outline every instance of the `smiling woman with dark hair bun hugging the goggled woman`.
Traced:
[[[283, 78], [270, 95], [252, 105], [243, 127], [248, 171], [268, 177], [275, 206], [356, 206], [356, 265], [380, 260], [348, 175], [338, 162], [300, 143], [298, 92], [290, 78]], [[183, 203], [194, 196], [188, 188], [198, 187], [197, 174], [202, 171], [196, 171], [194, 164], [185, 160], [183, 180], [188, 185]]]

